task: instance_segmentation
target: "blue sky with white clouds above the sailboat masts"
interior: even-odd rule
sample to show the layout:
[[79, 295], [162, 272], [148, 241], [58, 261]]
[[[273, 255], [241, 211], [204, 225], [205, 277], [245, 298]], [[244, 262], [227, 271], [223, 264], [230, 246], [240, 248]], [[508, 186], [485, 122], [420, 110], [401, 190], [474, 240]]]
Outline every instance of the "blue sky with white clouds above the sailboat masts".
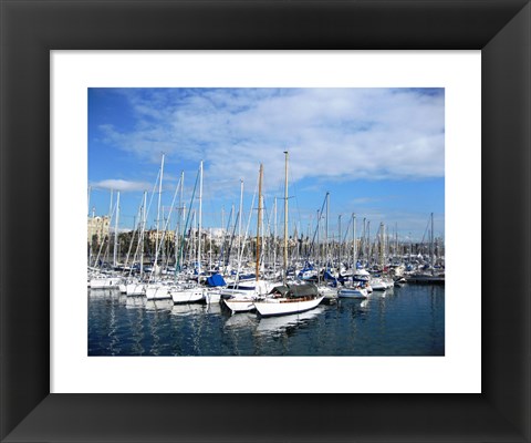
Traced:
[[144, 190], [152, 200], [146, 226], [156, 226], [164, 153], [162, 213], [170, 227], [181, 172], [188, 208], [202, 161], [202, 227], [227, 226], [232, 206], [239, 209], [243, 181], [242, 231], [247, 224], [256, 231], [251, 207], [258, 207], [262, 164], [264, 218], [273, 229], [277, 198], [280, 235], [289, 152], [291, 234], [296, 228], [313, 236], [329, 193], [330, 236], [340, 227], [342, 237], [350, 235], [355, 214], [358, 236], [365, 219], [373, 235], [384, 223], [399, 239], [418, 241], [427, 239], [430, 213], [435, 236], [445, 235], [444, 89], [97, 87], [87, 93], [87, 213], [112, 213], [119, 190], [121, 229], [137, 222]]

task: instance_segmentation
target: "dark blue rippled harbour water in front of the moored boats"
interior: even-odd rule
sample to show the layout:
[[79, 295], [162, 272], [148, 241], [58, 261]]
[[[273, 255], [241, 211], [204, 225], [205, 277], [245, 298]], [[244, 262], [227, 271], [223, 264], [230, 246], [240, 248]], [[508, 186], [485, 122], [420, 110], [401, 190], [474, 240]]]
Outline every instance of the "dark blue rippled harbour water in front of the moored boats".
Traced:
[[291, 316], [88, 290], [88, 356], [444, 356], [445, 287], [405, 285]]

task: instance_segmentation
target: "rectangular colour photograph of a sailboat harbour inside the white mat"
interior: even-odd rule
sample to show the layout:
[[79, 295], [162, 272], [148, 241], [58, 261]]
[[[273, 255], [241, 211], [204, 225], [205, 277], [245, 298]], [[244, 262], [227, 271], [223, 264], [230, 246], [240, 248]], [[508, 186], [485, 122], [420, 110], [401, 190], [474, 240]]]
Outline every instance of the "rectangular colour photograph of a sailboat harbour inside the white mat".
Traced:
[[444, 87], [88, 87], [88, 357], [444, 357]]

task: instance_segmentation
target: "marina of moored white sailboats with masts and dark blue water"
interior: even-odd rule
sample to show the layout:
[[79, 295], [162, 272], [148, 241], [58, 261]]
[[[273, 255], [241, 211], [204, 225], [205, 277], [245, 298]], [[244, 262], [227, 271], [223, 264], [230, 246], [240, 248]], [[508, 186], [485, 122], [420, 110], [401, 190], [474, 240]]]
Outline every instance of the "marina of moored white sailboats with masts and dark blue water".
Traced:
[[[155, 254], [146, 261], [144, 193], [140, 222], [124, 260], [118, 249], [118, 193], [113, 238], [105, 238], [94, 260], [92, 248], [88, 254], [88, 356], [444, 356], [444, 256], [434, 241], [433, 214], [428, 243], [423, 245], [426, 255], [413, 255], [412, 247], [406, 254], [406, 245], [396, 238], [393, 244], [383, 223], [371, 238], [364, 220], [358, 236], [354, 214], [346, 235], [340, 231], [329, 240], [326, 193], [314, 235], [323, 225], [324, 241], [290, 247], [289, 153], [284, 156], [283, 238], [263, 227], [260, 165], [256, 234], [251, 237], [246, 229], [236, 236], [235, 218], [233, 234], [218, 245], [216, 261], [211, 237], [204, 237], [201, 229], [202, 162], [196, 179], [197, 229], [188, 228], [195, 187], [184, 228], [177, 223], [171, 254], [164, 253], [168, 216], [160, 229], [157, 223]], [[164, 155], [159, 189], [163, 166]], [[160, 190], [158, 197], [160, 207]], [[241, 208], [238, 219], [240, 214]], [[248, 227], [252, 215], [253, 210]], [[206, 244], [208, 261], [201, 249]], [[102, 260], [111, 251], [112, 266]]]

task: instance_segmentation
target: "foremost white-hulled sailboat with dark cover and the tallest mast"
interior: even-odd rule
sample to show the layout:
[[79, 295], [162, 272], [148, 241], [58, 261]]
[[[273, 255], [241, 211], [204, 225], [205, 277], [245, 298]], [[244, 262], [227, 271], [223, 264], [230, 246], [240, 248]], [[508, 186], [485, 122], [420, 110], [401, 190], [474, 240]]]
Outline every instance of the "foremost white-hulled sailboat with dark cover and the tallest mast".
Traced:
[[285, 155], [285, 182], [284, 182], [284, 269], [283, 285], [274, 287], [271, 292], [261, 300], [254, 301], [254, 308], [262, 317], [283, 316], [296, 313], [315, 308], [324, 296], [320, 295], [313, 284], [287, 284], [288, 275], [288, 152]]

